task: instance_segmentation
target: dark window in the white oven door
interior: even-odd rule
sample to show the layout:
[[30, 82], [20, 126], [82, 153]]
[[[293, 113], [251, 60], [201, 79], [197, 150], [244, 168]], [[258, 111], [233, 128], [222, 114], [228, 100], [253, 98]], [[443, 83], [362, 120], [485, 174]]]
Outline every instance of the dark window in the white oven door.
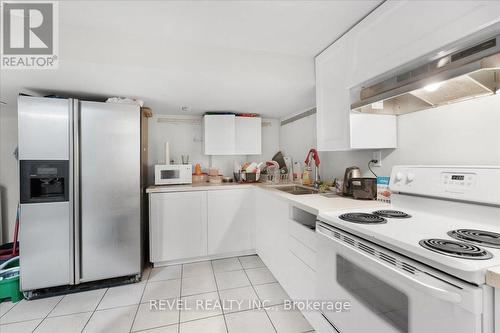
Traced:
[[349, 259], [341, 255], [336, 259], [337, 283], [398, 332], [407, 333], [408, 296]]

